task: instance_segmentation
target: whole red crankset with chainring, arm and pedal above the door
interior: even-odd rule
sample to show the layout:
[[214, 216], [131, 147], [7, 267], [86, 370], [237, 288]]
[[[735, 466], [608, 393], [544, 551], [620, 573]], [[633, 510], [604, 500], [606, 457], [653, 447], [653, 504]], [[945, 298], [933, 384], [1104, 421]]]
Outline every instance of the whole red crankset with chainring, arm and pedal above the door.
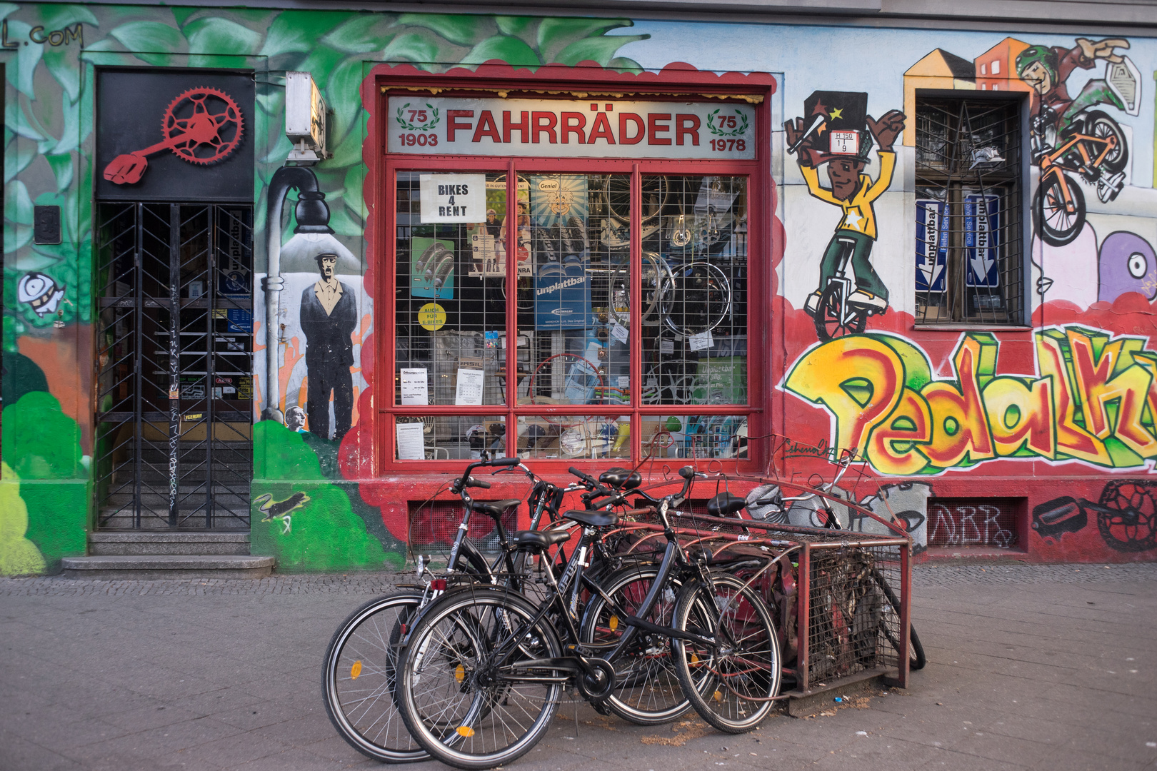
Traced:
[[165, 108], [161, 133], [164, 139], [156, 144], [115, 157], [104, 168], [104, 178], [115, 185], [138, 183], [148, 156], [161, 150], [172, 150], [182, 161], [198, 165], [222, 161], [241, 143], [244, 118], [224, 91], [191, 88]]

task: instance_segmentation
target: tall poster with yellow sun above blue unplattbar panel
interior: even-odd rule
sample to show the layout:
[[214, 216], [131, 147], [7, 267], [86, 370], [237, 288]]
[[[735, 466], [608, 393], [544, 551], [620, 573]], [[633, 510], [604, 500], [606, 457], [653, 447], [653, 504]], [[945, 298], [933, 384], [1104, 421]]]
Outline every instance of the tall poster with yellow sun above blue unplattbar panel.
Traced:
[[594, 324], [587, 269], [588, 208], [585, 177], [531, 177], [535, 327], [538, 329], [581, 329]]

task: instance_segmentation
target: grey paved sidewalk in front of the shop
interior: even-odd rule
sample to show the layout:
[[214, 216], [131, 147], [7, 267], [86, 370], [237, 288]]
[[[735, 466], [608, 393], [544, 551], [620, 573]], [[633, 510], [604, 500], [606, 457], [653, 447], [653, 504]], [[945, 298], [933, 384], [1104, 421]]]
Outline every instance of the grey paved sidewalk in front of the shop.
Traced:
[[[382, 768], [336, 734], [319, 677], [393, 579], [0, 579], [0, 769]], [[1157, 769], [1157, 564], [921, 566], [913, 617], [928, 667], [864, 709], [730, 736], [563, 704], [513, 768]]]

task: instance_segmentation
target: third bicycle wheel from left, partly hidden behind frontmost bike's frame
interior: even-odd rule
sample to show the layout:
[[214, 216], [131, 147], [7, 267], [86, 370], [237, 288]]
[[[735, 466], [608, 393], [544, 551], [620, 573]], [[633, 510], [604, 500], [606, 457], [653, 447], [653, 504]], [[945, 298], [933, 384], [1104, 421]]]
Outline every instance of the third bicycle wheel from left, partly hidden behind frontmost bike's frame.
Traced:
[[[658, 568], [632, 565], [618, 570], [600, 581], [606, 598], [592, 594], [583, 611], [578, 639], [584, 645], [618, 640], [627, 627], [625, 618], [635, 615], [650, 590]], [[675, 588], [670, 598], [659, 596], [647, 621], [668, 625], [675, 611]], [[606, 698], [606, 707], [624, 720], [640, 726], [670, 722], [691, 709], [691, 702], [679, 684], [671, 661], [670, 639], [640, 632], [643, 640], [634, 655], [626, 654], [614, 665], [614, 690]], [[632, 646], [636, 647], [636, 646]]]

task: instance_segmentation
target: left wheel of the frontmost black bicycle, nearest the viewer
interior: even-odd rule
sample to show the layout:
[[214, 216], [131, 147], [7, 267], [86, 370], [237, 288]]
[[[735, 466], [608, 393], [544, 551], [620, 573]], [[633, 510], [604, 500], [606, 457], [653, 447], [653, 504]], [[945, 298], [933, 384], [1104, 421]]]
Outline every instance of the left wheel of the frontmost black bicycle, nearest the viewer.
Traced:
[[517, 593], [471, 587], [439, 599], [418, 620], [400, 654], [396, 700], [411, 735], [435, 759], [492, 769], [545, 735], [562, 685], [496, 680], [486, 659], [510, 635], [525, 640], [517, 647], [529, 658], [560, 657], [546, 620], [523, 625], [535, 613]]

